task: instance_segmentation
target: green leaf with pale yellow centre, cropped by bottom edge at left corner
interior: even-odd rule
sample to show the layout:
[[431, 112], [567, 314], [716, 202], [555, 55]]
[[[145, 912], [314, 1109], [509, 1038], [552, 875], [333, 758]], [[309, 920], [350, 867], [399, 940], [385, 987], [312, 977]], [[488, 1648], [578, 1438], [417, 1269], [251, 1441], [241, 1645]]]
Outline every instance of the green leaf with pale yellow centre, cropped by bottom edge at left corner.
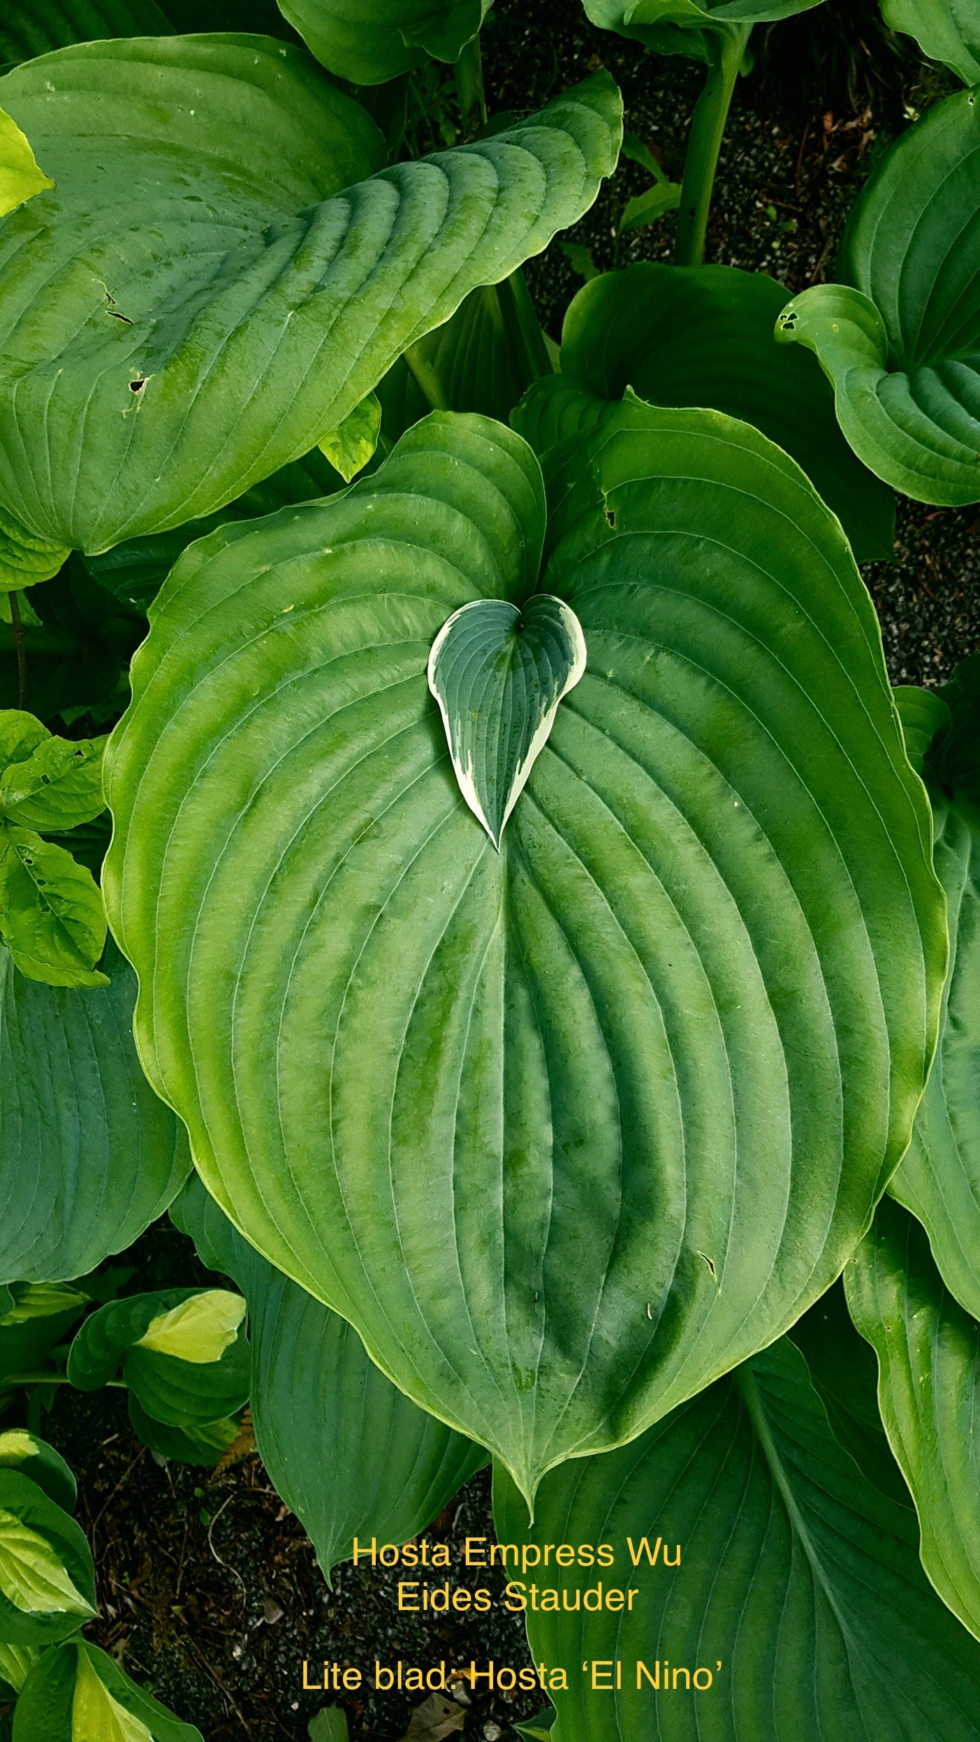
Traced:
[[78, 1639], [45, 1651], [28, 1676], [14, 1742], [202, 1742], [202, 1735]]

